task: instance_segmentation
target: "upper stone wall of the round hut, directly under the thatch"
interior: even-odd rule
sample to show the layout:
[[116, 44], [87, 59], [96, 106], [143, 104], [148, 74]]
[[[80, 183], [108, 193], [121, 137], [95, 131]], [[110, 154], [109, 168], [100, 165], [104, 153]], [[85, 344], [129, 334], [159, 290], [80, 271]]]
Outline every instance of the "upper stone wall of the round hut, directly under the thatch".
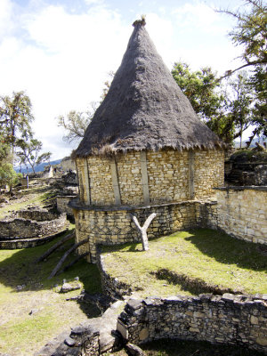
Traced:
[[[193, 152], [195, 198], [214, 195], [214, 187], [223, 185], [223, 150]], [[150, 203], [179, 202], [190, 199], [189, 151], [160, 150], [146, 152]], [[118, 154], [115, 158], [121, 204], [144, 204], [141, 152]], [[86, 205], [115, 205], [111, 159], [77, 158], [80, 200]]]

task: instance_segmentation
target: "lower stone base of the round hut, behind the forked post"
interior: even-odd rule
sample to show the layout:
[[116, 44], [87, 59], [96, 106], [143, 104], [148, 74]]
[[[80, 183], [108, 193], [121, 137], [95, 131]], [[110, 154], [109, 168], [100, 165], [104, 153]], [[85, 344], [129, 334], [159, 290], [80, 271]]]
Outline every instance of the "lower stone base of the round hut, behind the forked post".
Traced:
[[148, 229], [149, 239], [198, 227], [201, 225], [199, 204], [196, 200], [154, 206], [81, 206], [72, 200], [70, 206], [75, 215], [76, 242], [89, 238], [87, 244], [78, 247], [78, 252], [89, 252], [88, 262], [95, 263], [97, 245], [140, 241], [131, 214], [137, 217], [141, 225], [150, 214], [157, 214]]

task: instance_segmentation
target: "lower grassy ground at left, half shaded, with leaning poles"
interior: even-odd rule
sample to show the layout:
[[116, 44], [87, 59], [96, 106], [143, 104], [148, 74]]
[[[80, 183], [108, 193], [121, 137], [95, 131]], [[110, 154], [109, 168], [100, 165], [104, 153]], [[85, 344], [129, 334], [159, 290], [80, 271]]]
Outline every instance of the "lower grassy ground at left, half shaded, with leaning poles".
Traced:
[[[0, 250], [0, 354], [31, 355], [53, 336], [70, 330], [88, 316], [98, 315], [93, 305], [66, 301], [80, 290], [59, 294], [54, 287], [61, 285], [62, 279], [69, 281], [78, 276], [86, 291], [100, 292], [100, 275], [95, 265], [82, 260], [60, 276], [47, 279], [73, 240], [46, 261], [35, 262], [56, 241], [34, 248]], [[69, 256], [66, 264], [73, 258], [74, 255]], [[18, 290], [17, 286], [22, 285], [25, 287]]]

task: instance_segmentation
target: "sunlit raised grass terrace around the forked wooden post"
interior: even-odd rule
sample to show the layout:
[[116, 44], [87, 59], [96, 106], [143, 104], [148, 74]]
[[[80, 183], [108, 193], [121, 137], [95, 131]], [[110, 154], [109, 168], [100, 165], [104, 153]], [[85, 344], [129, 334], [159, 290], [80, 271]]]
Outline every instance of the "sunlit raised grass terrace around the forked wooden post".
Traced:
[[[142, 244], [104, 247], [109, 274], [137, 295], [267, 293], [267, 257], [257, 245], [208, 229], [182, 231]], [[226, 289], [226, 290], [225, 290]]]

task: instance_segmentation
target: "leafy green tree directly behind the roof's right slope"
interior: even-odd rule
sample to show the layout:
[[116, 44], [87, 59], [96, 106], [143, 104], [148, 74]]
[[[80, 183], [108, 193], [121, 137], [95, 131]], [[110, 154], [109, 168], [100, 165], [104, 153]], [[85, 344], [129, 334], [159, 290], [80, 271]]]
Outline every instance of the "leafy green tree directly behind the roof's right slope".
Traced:
[[253, 124], [255, 94], [246, 72], [219, 81], [212, 69], [191, 71], [187, 63], [174, 64], [172, 74], [193, 109], [224, 142], [231, 143]]

